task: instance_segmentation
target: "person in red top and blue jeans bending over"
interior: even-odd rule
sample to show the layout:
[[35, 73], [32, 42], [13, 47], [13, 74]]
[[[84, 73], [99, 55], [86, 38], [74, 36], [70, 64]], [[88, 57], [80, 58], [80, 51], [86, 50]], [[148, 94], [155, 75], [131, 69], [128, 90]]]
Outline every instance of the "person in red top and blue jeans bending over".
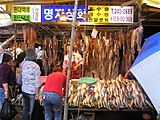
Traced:
[[[62, 65], [54, 67], [53, 73], [48, 75], [43, 88], [43, 104], [45, 120], [62, 120], [63, 95], [65, 95], [67, 76]], [[62, 90], [63, 89], [63, 90]]]

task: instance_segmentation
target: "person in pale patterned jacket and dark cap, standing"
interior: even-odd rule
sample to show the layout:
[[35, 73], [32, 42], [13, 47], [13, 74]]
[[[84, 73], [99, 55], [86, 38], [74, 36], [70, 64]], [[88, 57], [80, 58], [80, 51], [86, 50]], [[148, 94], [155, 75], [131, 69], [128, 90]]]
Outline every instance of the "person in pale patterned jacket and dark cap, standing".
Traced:
[[23, 95], [23, 120], [30, 120], [33, 112], [35, 98], [40, 87], [40, 67], [35, 62], [36, 53], [33, 49], [26, 50], [26, 57], [22, 63], [22, 95]]

